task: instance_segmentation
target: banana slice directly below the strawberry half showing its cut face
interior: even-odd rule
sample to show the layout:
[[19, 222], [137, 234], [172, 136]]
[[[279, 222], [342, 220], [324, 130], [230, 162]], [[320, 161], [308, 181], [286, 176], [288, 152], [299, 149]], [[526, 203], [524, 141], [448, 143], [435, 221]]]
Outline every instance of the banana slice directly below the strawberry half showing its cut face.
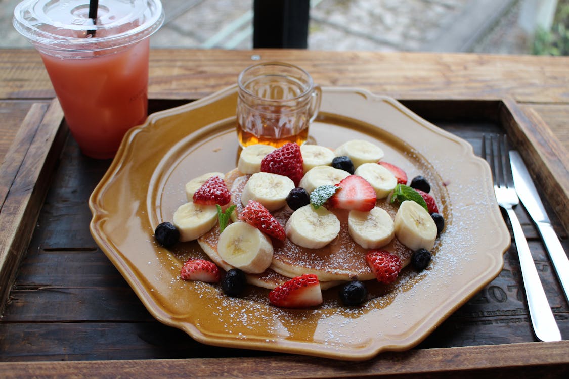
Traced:
[[350, 211], [348, 231], [352, 239], [365, 249], [385, 246], [395, 236], [391, 216], [379, 207], [368, 212]]

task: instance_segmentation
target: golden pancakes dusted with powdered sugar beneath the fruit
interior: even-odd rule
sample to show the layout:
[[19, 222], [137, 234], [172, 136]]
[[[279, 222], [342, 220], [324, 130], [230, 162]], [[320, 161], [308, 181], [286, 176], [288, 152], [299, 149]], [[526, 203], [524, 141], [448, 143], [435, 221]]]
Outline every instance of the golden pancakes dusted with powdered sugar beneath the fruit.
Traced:
[[[236, 214], [244, 206], [241, 204], [241, 192], [250, 176], [240, 173], [237, 169], [230, 171], [225, 182], [230, 188], [232, 203], [236, 205]], [[377, 206], [385, 209], [394, 218], [397, 207], [389, 204], [386, 199], [377, 201]], [[349, 280], [372, 280], [375, 278], [372, 270], [365, 261], [369, 249], [362, 248], [348, 232], [349, 211], [330, 209], [340, 220], [340, 234], [328, 245], [319, 249], [307, 249], [292, 243], [288, 238], [284, 241], [273, 239], [273, 261], [262, 274], [248, 274], [248, 282], [263, 288], [274, 288], [289, 278], [312, 273], [318, 276], [321, 287], [328, 288]], [[288, 206], [273, 212], [275, 218], [283, 226], [292, 214]], [[220, 267], [232, 268], [217, 254], [218, 228], [213, 228], [198, 239], [204, 252]], [[409, 264], [413, 251], [401, 244], [396, 238], [387, 244], [385, 249], [401, 260], [402, 267]]]

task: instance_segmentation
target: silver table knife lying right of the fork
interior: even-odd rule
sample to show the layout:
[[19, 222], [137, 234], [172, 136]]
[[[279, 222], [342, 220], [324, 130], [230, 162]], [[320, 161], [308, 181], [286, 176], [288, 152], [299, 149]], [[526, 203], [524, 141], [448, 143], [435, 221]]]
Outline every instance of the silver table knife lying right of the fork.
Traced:
[[512, 163], [512, 176], [518, 197], [539, 230], [565, 297], [569, 302], [569, 259], [551, 227], [551, 222], [543, 208], [541, 199], [539, 199], [531, 176], [517, 151], [510, 150], [510, 162]]

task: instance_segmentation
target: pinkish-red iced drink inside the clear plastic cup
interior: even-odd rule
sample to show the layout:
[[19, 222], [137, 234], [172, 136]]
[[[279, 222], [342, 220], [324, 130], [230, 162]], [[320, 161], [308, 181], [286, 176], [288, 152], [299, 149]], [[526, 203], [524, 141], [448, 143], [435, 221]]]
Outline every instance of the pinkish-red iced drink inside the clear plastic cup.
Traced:
[[126, 131], [146, 119], [149, 39], [113, 54], [42, 59], [81, 150], [112, 158]]

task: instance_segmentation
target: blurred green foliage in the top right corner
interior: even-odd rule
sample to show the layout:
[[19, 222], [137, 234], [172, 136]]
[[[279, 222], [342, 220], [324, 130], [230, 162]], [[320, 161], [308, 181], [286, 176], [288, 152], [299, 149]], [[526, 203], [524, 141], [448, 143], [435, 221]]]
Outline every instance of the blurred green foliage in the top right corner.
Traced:
[[536, 55], [569, 55], [569, 0], [559, 0], [551, 31], [538, 30], [533, 43]]

